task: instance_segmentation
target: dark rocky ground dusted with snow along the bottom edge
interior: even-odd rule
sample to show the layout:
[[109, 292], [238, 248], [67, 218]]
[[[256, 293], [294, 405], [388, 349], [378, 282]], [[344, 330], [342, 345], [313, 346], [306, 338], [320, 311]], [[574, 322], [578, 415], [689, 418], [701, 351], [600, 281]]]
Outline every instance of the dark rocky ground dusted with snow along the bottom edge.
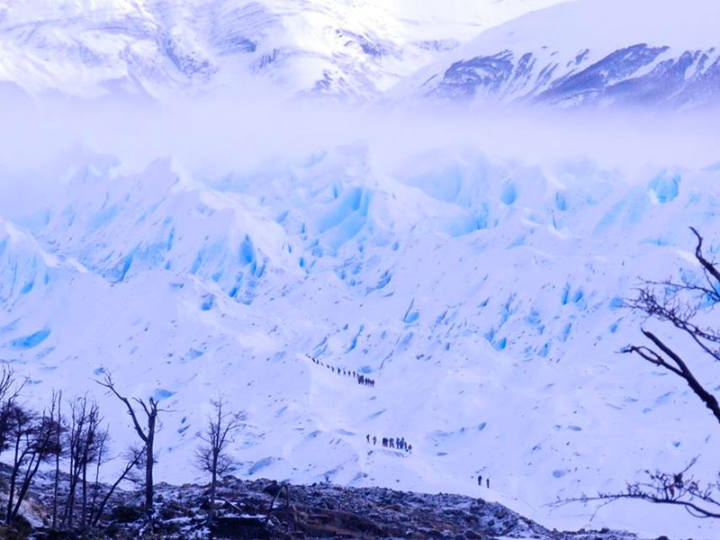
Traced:
[[[78, 538], [79, 531], [49, 531], [50, 490], [32, 493], [24, 536]], [[437, 538], [449, 540], [639, 540], [619, 531], [550, 531], [497, 503], [446, 493], [420, 494], [332, 484], [285, 485], [226, 478], [220, 485], [219, 515], [205, 526], [207, 486], [157, 486], [152, 527], [141, 509], [141, 494], [121, 491], [102, 527], [87, 538], [168, 540], [242, 538]]]

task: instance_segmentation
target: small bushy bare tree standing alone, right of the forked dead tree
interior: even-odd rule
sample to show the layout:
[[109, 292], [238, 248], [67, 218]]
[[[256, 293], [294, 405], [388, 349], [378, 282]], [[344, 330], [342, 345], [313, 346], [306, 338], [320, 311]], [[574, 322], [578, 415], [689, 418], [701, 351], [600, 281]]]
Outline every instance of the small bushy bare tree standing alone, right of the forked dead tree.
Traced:
[[202, 444], [195, 451], [198, 466], [211, 474], [208, 526], [212, 525], [215, 515], [218, 476], [227, 473], [233, 464], [227, 446], [232, 442], [233, 433], [242, 428], [247, 419], [243, 411], [228, 410], [228, 402], [221, 395], [217, 400], [211, 400], [211, 405], [212, 413], [208, 416], [205, 432], [200, 436]]

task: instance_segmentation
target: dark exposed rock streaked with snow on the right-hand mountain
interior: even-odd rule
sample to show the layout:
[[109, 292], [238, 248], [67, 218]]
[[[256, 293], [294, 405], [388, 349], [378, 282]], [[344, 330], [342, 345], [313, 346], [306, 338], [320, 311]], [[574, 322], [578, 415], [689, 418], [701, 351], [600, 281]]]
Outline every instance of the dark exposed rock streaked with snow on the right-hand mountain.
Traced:
[[638, 43], [585, 65], [586, 49], [567, 66], [552, 57], [506, 49], [455, 62], [442, 76], [428, 80], [424, 94], [441, 101], [484, 98], [561, 106], [617, 103], [680, 108], [712, 103], [720, 84], [716, 51], [685, 50], [673, 57], [668, 49]]

